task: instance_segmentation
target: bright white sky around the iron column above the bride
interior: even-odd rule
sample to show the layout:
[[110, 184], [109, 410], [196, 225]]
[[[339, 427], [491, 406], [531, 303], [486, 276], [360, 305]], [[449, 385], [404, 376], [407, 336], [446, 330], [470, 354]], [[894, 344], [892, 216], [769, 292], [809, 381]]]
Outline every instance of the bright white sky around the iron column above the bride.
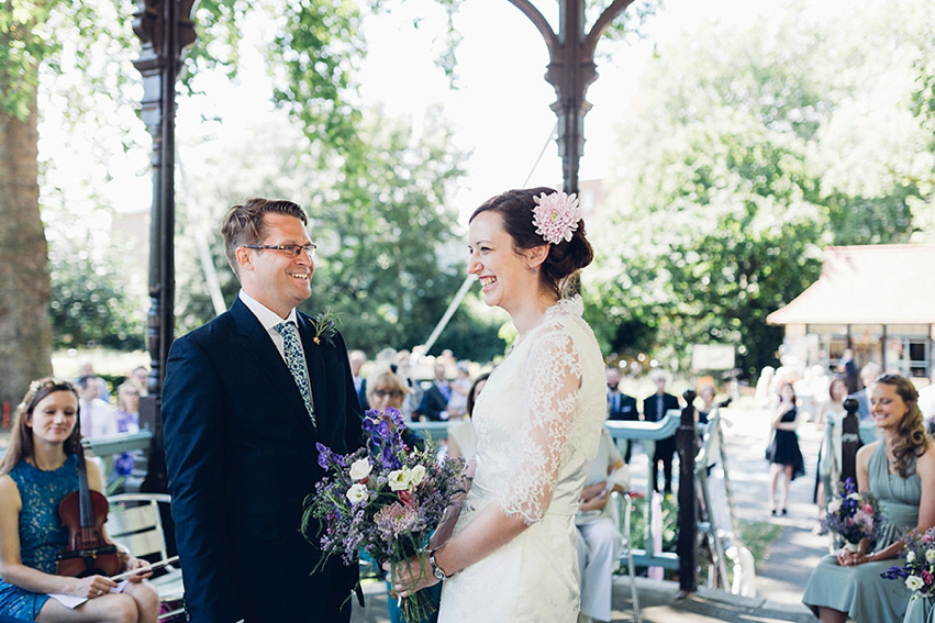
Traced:
[[[614, 123], [637, 85], [639, 71], [655, 42], [691, 30], [706, 16], [743, 23], [769, 14], [781, 0], [667, 0], [650, 19], [646, 41], [634, 46], [604, 41], [599, 53], [598, 80], [587, 100], [585, 155], [579, 179], [602, 178], [614, 153]], [[546, 7], [555, 0], [539, 1]], [[413, 16], [421, 16], [419, 30]], [[546, 15], [553, 20], [554, 15]], [[522, 186], [543, 147], [542, 160], [527, 186], [561, 185], [561, 163], [555, 141], [547, 141], [556, 116], [553, 87], [545, 81], [548, 65], [545, 43], [532, 22], [508, 0], [465, 2], [455, 27], [463, 35], [458, 48], [456, 91], [433, 64], [444, 32], [445, 18], [433, 0], [411, 0], [392, 15], [372, 20], [367, 30], [370, 54], [360, 76], [367, 100], [381, 101], [388, 111], [411, 115], [414, 123], [426, 105], [441, 102], [457, 129], [456, 140], [472, 152], [466, 164], [465, 188], [456, 197], [461, 213], [488, 197]]]

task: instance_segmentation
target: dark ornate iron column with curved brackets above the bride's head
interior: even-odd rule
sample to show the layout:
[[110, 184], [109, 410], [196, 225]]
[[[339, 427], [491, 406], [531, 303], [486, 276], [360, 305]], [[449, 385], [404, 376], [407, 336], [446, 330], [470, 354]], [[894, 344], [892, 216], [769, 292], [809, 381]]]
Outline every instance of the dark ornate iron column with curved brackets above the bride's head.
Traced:
[[598, 79], [594, 48], [598, 40], [633, 0], [614, 0], [604, 9], [591, 31], [585, 32], [586, 0], [558, 0], [558, 34], [531, 0], [510, 0], [538, 29], [548, 47], [545, 74], [557, 99], [552, 110], [558, 116], [558, 155], [561, 158], [563, 189], [578, 192], [578, 166], [585, 152], [585, 115], [591, 104], [585, 100], [588, 87]]

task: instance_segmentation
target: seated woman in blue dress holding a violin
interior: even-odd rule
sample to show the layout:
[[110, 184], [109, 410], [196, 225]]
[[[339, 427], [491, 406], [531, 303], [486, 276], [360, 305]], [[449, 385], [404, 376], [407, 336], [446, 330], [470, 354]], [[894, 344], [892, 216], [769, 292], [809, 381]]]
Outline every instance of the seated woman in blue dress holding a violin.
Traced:
[[[103, 480], [93, 463], [80, 472], [79, 440], [75, 388], [51, 378], [31, 383], [16, 408], [10, 446], [0, 461], [0, 614], [51, 623], [155, 623], [159, 598], [142, 582], [148, 571], [127, 578], [122, 592], [110, 592], [118, 582], [108, 576], [143, 569], [146, 563], [115, 552], [108, 539]], [[80, 504], [75, 503], [76, 494], [81, 496]], [[98, 543], [81, 539], [82, 534]], [[88, 552], [94, 553], [96, 565], [85, 568], [79, 554]], [[56, 575], [57, 570], [84, 577]], [[70, 609], [51, 594], [86, 601]]]

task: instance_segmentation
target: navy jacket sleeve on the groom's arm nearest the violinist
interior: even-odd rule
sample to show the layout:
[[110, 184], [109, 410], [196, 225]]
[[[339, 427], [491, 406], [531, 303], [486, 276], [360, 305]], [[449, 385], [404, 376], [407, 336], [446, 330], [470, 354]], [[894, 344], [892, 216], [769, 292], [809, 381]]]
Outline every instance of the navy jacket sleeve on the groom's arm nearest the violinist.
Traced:
[[233, 623], [240, 608], [221, 468], [224, 396], [201, 346], [189, 336], [176, 340], [166, 365], [162, 416], [186, 602], [194, 621]]

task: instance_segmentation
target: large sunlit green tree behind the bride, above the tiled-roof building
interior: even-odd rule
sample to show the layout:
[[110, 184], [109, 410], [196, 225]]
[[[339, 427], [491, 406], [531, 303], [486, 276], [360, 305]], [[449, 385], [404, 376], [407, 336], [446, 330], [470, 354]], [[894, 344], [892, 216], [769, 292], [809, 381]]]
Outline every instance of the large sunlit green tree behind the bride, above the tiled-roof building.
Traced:
[[932, 152], [910, 111], [917, 48], [895, 35], [932, 24], [870, 4], [848, 20], [709, 25], [657, 51], [621, 129], [620, 209], [599, 223], [586, 289], [613, 351], [684, 364], [692, 343], [726, 343], [754, 374], [782, 340], [766, 315], [817, 278], [823, 246], [910, 240], [926, 199], [910, 171]]

